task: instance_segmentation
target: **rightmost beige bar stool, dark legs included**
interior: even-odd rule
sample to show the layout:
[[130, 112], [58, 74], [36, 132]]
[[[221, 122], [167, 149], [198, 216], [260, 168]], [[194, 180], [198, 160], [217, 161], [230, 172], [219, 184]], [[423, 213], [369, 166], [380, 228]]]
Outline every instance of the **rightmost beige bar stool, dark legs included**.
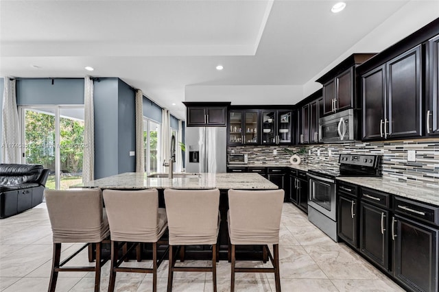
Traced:
[[[235, 273], [274, 273], [276, 291], [281, 291], [279, 274], [279, 230], [283, 204], [283, 190], [228, 191], [228, 236], [231, 243], [231, 284], [235, 291]], [[273, 267], [235, 267], [235, 245], [263, 245]], [[273, 256], [268, 249], [273, 245]]]

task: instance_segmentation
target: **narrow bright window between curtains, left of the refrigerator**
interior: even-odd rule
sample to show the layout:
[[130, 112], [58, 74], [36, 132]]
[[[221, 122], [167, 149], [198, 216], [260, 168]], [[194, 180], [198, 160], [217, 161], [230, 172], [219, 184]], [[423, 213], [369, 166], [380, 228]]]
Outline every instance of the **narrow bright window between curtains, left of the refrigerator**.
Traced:
[[145, 172], [158, 171], [161, 159], [161, 124], [150, 119], [143, 119], [143, 139], [145, 147]]

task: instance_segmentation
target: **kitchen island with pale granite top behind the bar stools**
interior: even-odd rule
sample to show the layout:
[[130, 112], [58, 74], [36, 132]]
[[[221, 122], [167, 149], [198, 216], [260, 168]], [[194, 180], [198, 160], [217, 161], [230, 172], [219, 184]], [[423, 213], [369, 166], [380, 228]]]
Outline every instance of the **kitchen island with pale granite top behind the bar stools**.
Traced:
[[[221, 260], [226, 260], [228, 258], [227, 191], [229, 189], [254, 191], [278, 189], [276, 184], [273, 184], [270, 180], [267, 180], [258, 173], [175, 173], [174, 178], [172, 179], [161, 177], [165, 175], [166, 173], [153, 173], [152, 175], [142, 173], [121, 173], [118, 175], [112, 175], [108, 178], [101, 178], [84, 184], [78, 184], [72, 188], [101, 188], [126, 191], [156, 188], [158, 190], [158, 206], [161, 208], [165, 207], [165, 199], [163, 195], [165, 188], [195, 190], [218, 188], [220, 191], [219, 211], [221, 212], [218, 242], [219, 259]], [[145, 254], [146, 257], [150, 256], [150, 250], [143, 250], [143, 254]], [[237, 256], [239, 258], [261, 259], [262, 254], [262, 249], [260, 247], [237, 250]], [[187, 247], [186, 257], [209, 259], [209, 257], [211, 257], [210, 247]]]

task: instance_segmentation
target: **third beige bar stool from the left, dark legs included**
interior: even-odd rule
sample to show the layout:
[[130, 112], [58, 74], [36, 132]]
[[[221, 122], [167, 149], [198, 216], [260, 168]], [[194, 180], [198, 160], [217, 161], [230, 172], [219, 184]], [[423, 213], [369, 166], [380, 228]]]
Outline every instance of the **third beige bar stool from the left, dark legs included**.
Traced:
[[[165, 189], [169, 228], [169, 273], [167, 291], [172, 291], [174, 271], [211, 271], [217, 291], [217, 237], [219, 231], [219, 190]], [[212, 245], [212, 267], [175, 267], [174, 246]]]

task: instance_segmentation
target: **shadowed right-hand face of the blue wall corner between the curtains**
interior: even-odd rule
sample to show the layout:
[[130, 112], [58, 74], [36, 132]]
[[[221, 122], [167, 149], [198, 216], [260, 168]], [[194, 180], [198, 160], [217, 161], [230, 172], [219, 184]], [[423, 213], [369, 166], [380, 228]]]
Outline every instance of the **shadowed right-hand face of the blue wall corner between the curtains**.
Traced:
[[119, 173], [136, 171], [136, 104], [134, 90], [119, 80], [118, 84], [118, 151]]

